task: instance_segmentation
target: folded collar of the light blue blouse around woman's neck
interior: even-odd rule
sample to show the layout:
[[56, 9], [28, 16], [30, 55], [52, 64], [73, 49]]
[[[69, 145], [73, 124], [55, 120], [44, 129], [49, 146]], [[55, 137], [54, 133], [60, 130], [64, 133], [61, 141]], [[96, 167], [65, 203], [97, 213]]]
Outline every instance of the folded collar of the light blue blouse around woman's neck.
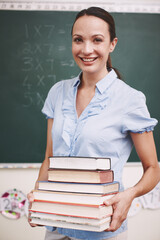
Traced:
[[[73, 87], [77, 87], [80, 84], [81, 79], [80, 73], [73, 82]], [[98, 91], [103, 94], [103, 92], [109, 88], [109, 86], [114, 82], [114, 80], [117, 78], [116, 72], [112, 69], [103, 79], [97, 82], [96, 87]]]

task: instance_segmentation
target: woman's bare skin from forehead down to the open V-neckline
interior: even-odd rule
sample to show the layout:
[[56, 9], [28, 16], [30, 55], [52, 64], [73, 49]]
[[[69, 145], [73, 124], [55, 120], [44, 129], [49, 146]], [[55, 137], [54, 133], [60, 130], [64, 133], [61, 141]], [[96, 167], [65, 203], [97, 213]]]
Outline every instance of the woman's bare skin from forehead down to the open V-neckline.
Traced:
[[95, 95], [95, 84], [107, 75], [106, 63], [116, 43], [116, 37], [111, 41], [109, 25], [100, 18], [84, 15], [74, 23], [72, 55], [83, 71], [76, 101], [78, 117]]

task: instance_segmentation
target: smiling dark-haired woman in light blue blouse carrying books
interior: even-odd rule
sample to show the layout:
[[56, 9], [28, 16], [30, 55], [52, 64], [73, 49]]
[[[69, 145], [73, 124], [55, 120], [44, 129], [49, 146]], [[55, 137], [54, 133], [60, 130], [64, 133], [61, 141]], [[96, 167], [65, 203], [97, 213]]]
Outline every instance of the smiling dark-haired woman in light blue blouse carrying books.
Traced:
[[[47, 180], [51, 155], [110, 157], [121, 189], [105, 202], [114, 209], [110, 227], [100, 233], [58, 229], [58, 233], [48, 231], [46, 239], [127, 239], [125, 219], [133, 199], [160, 180], [152, 134], [157, 120], [150, 118], [144, 95], [120, 80], [111, 66], [116, 44], [114, 20], [105, 10], [92, 7], [77, 15], [72, 54], [82, 72], [49, 91], [42, 109], [48, 118], [46, 155], [37, 180]], [[122, 170], [133, 144], [144, 173], [135, 186], [124, 190]], [[30, 201], [32, 197], [29, 194]]]

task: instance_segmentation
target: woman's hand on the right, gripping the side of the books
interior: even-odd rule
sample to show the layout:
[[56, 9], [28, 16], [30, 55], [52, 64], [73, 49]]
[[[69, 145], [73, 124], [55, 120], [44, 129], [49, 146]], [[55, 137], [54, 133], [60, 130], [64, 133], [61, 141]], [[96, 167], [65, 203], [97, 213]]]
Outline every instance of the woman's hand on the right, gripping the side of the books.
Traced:
[[131, 203], [134, 199], [134, 190], [129, 188], [124, 192], [117, 193], [114, 197], [104, 202], [106, 206], [113, 207], [113, 215], [111, 218], [111, 224], [105, 231], [116, 231], [123, 221], [127, 218], [127, 214]]

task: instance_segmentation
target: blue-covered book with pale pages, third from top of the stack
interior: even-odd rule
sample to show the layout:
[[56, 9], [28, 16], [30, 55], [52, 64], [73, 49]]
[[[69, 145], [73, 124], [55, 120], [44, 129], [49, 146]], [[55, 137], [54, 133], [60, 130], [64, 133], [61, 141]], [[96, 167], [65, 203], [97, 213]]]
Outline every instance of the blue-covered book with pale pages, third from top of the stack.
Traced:
[[74, 192], [89, 194], [110, 194], [119, 191], [119, 182], [111, 183], [68, 183], [68, 182], [49, 182], [39, 181], [39, 190]]

